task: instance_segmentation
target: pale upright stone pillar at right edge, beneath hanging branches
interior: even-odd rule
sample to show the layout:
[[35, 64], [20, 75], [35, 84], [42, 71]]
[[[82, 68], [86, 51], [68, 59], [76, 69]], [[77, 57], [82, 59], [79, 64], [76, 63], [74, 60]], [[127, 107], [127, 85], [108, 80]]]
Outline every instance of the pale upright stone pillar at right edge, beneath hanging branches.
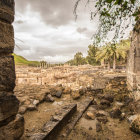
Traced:
[[[131, 47], [127, 64], [128, 87], [133, 91], [140, 90], [140, 23], [137, 22], [131, 37]], [[138, 92], [137, 92], [138, 93]], [[140, 96], [140, 92], [138, 93]]]

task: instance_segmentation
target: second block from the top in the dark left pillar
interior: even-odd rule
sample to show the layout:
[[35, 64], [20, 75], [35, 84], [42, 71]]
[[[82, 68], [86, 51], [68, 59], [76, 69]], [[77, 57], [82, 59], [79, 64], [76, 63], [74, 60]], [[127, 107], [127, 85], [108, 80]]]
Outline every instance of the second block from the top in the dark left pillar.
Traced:
[[0, 21], [0, 54], [13, 53], [14, 45], [13, 26]]

